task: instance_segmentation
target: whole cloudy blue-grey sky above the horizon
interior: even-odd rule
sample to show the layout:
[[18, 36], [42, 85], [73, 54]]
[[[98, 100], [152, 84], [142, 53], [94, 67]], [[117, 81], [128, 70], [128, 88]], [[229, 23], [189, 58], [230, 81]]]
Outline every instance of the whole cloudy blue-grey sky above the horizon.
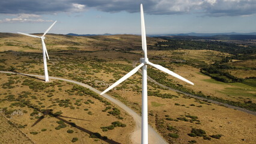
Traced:
[[140, 34], [256, 32], [256, 0], [3, 0], [0, 32]]

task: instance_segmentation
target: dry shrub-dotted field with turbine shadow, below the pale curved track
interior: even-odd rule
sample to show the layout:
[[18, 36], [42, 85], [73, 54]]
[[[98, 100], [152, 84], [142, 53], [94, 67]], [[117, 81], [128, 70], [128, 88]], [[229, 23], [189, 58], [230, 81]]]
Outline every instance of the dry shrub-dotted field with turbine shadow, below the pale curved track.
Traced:
[[[90, 90], [78, 91], [77, 88], [81, 86], [67, 82], [44, 83], [17, 74], [0, 75], [1, 107], [6, 107], [4, 113], [35, 143], [72, 143], [73, 137], [77, 137], [80, 143], [130, 143], [133, 119], [109, 101], [98, 100], [87, 94]], [[14, 83], [7, 84], [11, 81]], [[114, 108], [119, 110], [117, 115], [108, 113]], [[115, 121], [126, 126], [107, 131], [101, 128]], [[69, 133], [68, 130], [73, 132]], [[97, 139], [92, 137], [93, 133], [108, 139]], [[5, 137], [7, 143], [17, 138]]]

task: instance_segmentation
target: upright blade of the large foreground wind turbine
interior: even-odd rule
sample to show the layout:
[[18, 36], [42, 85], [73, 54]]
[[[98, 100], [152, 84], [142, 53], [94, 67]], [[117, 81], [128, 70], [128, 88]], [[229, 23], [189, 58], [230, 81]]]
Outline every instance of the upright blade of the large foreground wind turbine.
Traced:
[[144, 11], [143, 11], [142, 4], [141, 4], [141, 41], [142, 41], [142, 49], [144, 51], [144, 55], [146, 58], [147, 57], [147, 40], [146, 40], [146, 31], [145, 31]]

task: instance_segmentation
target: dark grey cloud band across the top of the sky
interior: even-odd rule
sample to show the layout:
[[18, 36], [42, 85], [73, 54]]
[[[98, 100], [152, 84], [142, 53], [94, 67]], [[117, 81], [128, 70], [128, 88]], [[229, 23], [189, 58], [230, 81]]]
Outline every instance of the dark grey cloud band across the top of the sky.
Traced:
[[[202, 13], [205, 16], [242, 16], [256, 13], [256, 1], [252, 0], [8, 0], [0, 1], [2, 14], [52, 14], [81, 12], [82, 8], [94, 8], [108, 13], [139, 12], [143, 2], [148, 14]], [[74, 5], [75, 4], [75, 5]], [[84, 5], [84, 6], [83, 6]], [[79, 6], [79, 7], [78, 7]]]

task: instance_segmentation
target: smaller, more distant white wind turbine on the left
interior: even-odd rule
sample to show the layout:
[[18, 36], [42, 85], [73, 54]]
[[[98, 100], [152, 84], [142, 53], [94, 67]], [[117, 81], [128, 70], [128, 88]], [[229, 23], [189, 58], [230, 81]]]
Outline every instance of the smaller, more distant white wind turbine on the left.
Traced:
[[25, 33], [22, 33], [22, 32], [17, 32], [18, 34], [23, 34], [23, 35], [27, 35], [29, 37], [34, 37], [34, 38], [41, 38], [41, 41], [42, 41], [42, 46], [43, 46], [43, 65], [44, 65], [44, 77], [45, 77], [45, 81], [46, 82], [49, 82], [49, 76], [48, 76], [48, 70], [47, 70], [47, 62], [46, 62], [46, 56], [49, 60], [49, 56], [48, 56], [48, 53], [47, 53], [47, 49], [46, 49], [46, 45], [44, 43], [44, 35], [47, 34], [48, 31], [50, 31], [50, 29], [52, 28], [52, 26], [56, 23], [57, 21], [55, 21], [45, 32], [44, 34], [41, 36], [41, 37], [38, 37], [37, 35], [31, 35], [31, 34], [25, 34]]

